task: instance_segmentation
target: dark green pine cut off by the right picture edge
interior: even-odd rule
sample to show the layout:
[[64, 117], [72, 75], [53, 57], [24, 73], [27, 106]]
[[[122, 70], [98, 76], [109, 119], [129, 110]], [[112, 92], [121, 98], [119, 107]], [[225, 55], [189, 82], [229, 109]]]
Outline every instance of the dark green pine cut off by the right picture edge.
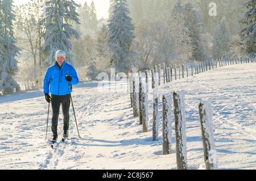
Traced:
[[256, 0], [250, 0], [243, 4], [247, 12], [241, 23], [246, 27], [240, 32], [242, 44], [245, 44], [249, 57], [256, 57]]

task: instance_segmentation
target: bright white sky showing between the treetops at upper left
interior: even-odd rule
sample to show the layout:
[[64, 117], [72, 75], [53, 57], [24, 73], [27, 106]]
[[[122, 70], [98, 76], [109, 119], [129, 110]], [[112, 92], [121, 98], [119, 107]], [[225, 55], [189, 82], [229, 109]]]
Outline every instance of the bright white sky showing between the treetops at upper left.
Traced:
[[[14, 0], [14, 5], [21, 5], [22, 3], [26, 3], [29, 0]], [[92, 0], [75, 0], [76, 3], [81, 5], [84, 5], [84, 2], [87, 2], [88, 5], [92, 3]], [[109, 16], [109, 0], [93, 0], [95, 6], [96, 6], [96, 11], [97, 11], [97, 18], [101, 19], [103, 18], [108, 18]]]

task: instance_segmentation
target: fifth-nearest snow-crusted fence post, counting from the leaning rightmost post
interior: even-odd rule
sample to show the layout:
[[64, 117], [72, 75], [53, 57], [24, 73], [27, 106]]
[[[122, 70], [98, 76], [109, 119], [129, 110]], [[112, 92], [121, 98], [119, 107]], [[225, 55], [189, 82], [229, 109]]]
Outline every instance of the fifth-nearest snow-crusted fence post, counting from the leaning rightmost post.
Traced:
[[142, 131], [146, 133], [148, 130], [148, 102], [147, 89], [142, 85]]

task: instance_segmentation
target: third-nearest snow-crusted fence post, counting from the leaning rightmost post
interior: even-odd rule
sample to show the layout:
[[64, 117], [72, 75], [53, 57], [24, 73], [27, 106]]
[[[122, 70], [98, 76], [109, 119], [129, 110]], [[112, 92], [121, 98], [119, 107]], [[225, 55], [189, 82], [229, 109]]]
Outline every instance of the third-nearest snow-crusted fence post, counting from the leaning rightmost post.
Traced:
[[172, 141], [171, 96], [163, 95], [163, 155], [171, 154]]

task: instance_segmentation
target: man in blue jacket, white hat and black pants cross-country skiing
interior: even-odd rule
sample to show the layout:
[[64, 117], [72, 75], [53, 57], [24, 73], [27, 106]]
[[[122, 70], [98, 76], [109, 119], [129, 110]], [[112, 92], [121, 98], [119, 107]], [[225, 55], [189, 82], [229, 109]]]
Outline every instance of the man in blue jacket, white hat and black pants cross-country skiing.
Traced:
[[[55, 55], [55, 65], [50, 66], [44, 76], [44, 95], [46, 101], [52, 104], [53, 143], [57, 141], [58, 137], [57, 124], [60, 104], [64, 117], [63, 137], [68, 137], [72, 85], [76, 85], [79, 82], [75, 68], [65, 62], [65, 56], [66, 54], [63, 50], [58, 50]], [[51, 92], [51, 96], [49, 92]]]

